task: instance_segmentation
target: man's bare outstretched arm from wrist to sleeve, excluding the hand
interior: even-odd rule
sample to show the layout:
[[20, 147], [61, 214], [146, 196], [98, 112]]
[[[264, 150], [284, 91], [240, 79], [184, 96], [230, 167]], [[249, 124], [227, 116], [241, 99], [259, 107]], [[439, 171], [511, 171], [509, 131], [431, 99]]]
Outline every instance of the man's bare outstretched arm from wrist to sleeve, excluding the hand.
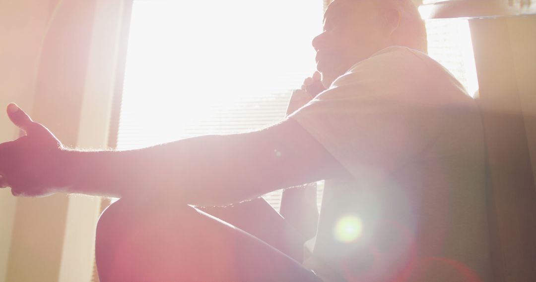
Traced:
[[64, 151], [68, 192], [230, 203], [343, 169], [294, 121], [263, 131], [200, 136], [132, 151]]

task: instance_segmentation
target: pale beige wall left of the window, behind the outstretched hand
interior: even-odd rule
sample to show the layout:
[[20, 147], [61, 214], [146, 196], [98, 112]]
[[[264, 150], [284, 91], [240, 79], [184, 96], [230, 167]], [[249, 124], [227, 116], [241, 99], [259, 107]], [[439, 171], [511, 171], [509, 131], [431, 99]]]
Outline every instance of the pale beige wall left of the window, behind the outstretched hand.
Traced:
[[[105, 147], [121, 3], [0, 0], [0, 105], [16, 102], [70, 147]], [[0, 129], [0, 142], [18, 136], [3, 112]], [[1, 190], [0, 281], [89, 281], [99, 202]]]

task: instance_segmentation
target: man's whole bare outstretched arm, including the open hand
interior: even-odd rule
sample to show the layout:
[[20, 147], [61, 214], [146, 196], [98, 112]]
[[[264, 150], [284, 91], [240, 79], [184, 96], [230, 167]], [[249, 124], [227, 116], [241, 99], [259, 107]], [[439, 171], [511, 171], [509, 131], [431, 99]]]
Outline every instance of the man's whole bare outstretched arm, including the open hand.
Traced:
[[65, 150], [20, 109], [9, 115], [27, 135], [0, 146], [0, 186], [18, 194], [69, 192], [213, 205], [345, 171], [294, 120], [255, 132], [200, 136], [140, 150], [83, 152]]

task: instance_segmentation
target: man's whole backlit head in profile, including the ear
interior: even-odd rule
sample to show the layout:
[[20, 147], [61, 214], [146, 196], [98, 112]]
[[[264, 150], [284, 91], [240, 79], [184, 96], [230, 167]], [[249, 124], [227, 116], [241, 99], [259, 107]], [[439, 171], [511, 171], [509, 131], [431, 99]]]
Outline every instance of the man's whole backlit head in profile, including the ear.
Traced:
[[334, 0], [312, 45], [327, 88], [352, 65], [392, 45], [426, 52], [424, 23], [411, 0]]

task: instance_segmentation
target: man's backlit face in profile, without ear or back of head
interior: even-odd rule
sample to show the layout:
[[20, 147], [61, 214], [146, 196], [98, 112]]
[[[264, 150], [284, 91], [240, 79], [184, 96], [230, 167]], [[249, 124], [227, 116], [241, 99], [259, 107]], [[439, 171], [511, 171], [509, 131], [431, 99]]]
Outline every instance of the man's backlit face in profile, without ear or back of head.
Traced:
[[357, 62], [388, 46], [388, 36], [372, 2], [334, 0], [327, 7], [324, 31], [312, 41], [324, 87]]

